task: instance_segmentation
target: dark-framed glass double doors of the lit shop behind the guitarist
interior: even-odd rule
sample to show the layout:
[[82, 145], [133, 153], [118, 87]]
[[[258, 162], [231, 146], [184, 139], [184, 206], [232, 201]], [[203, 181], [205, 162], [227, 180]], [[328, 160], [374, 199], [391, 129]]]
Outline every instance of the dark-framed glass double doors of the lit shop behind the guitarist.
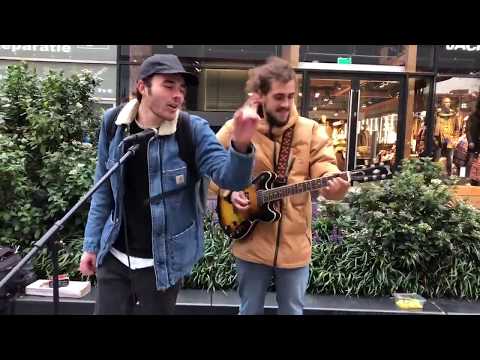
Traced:
[[402, 84], [402, 78], [370, 74], [308, 74], [303, 113], [324, 127], [340, 170], [380, 162], [393, 165], [401, 156]]

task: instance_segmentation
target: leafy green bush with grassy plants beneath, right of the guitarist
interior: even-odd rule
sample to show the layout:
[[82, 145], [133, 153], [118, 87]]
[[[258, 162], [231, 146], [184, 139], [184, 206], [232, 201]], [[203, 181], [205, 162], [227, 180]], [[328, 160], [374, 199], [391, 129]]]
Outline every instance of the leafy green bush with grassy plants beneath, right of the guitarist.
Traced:
[[478, 299], [480, 213], [453, 201], [437, 164], [405, 161], [392, 180], [363, 184], [347, 202], [343, 241], [314, 246], [310, 292]]

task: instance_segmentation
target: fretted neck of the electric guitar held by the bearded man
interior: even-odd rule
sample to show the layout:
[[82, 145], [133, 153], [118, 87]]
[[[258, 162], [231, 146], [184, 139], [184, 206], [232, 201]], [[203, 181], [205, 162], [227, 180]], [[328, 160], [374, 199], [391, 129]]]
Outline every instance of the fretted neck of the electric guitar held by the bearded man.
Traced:
[[297, 184], [279, 186], [270, 190], [260, 190], [259, 198], [261, 199], [261, 202], [265, 204], [271, 201], [283, 199], [291, 195], [315, 191], [327, 186], [329, 180], [335, 179], [337, 177], [341, 177], [345, 181], [350, 181], [350, 171], [335, 174], [332, 176], [307, 180]]

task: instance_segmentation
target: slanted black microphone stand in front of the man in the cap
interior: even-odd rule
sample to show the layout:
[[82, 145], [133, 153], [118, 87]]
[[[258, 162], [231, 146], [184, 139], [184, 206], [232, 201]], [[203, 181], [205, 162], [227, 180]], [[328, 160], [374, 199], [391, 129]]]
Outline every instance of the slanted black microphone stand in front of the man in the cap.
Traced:
[[94, 184], [94, 186], [65, 214], [65, 216], [55, 224], [38, 240], [33, 244], [33, 248], [10, 272], [0, 281], [0, 289], [5, 286], [25, 264], [45, 245], [48, 246], [53, 263], [53, 313], [55, 315], [59, 312], [59, 286], [58, 286], [58, 244], [57, 240], [49, 241], [57, 231], [63, 229], [67, 220], [93, 195], [98, 188], [110, 178], [110, 176], [122, 165], [130, 156], [135, 155], [135, 152], [140, 147], [139, 144], [131, 146], [127, 152], [118, 160], [114, 166], [102, 176], [102, 178]]

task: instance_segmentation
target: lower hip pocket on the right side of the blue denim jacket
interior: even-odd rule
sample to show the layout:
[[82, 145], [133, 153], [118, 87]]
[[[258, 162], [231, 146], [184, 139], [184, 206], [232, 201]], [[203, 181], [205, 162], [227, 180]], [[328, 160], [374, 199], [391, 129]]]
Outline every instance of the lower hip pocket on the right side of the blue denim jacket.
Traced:
[[170, 238], [173, 270], [182, 271], [195, 261], [198, 241], [195, 229], [195, 221], [193, 221], [185, 230]]

